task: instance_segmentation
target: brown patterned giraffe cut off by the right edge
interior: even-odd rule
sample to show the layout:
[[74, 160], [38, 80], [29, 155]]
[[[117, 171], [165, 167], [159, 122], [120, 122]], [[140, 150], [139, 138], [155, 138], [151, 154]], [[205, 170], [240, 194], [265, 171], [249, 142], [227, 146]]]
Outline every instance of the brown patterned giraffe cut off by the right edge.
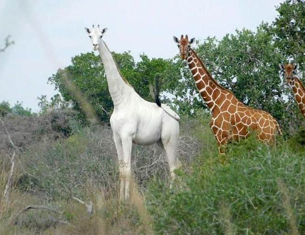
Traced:
[[281, 72], [284, 73], [284, 78], [288, 86], [294, 93], [294, 98], [298, 103], [299, 109], [305, 118], [305, 88], [301, 80], [297, 77], [299, 65], [285, 64], [279, 65]]

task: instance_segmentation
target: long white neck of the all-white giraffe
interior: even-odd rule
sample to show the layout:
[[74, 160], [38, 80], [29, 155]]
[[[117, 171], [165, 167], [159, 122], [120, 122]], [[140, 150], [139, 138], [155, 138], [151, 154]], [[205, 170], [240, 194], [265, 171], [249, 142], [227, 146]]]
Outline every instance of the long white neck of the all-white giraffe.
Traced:
[[118, 106], [130, 94], [132, 88], [123, 80], [111, 52], [103, 41], [99, 46], [99, 52], [106, 72], [110, 96], [114, 106]]

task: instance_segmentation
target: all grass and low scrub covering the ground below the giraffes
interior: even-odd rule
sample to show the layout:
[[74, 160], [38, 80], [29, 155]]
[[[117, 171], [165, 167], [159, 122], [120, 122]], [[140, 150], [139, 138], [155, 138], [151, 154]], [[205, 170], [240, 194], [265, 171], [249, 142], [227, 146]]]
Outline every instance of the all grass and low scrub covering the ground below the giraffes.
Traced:
[[[172, 188], [164, 153], [154, 145], [134, 145], [129, 202], [117, 196], [109, 127], [72, 128], [68, 137], [24, 145], [10, 205], [0, 210], [0, 234], [304, 234], [305, 148], [300, 138], [280, 138], [273, 147], [253, 137], [234, 142], [223, 161], [208, 123], [207, 114], [180, 123], [182, 166]], [[0, 163], [1, 192], [5, 158]], [[93, 201], [94, 214], [88, 215], [73, 196]], [[62, 214], [20, 214], [32, 204]]]

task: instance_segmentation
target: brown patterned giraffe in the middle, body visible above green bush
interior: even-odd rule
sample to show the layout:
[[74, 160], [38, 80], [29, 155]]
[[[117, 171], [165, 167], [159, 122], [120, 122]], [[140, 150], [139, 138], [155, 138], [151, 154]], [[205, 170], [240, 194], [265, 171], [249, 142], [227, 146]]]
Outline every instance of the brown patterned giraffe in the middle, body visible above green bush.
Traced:
[[218, 142], [220, 154], [225, 154], [223, 146], [231, 140], [239, 141], [257, 133], [257, 139], [272, 144], [276, 135], [281, 134], [279, 123], [269, 113], [244, 105], [232, 92], [223, 88], [211, 76], [196, 52], [190, 47], [195, 41], [174, 37], [182, 60], [186, 60], [193, 74], [197, 89], [212, 112], [210, 127]]

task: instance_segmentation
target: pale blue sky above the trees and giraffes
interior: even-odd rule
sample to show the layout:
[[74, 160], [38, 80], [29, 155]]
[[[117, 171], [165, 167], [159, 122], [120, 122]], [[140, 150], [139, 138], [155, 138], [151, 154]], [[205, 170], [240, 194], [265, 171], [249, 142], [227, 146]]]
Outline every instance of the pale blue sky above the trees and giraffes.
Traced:
[[108, 27], [110, 50], [171, 58], [173, 35], [222, 38], [243, 27], [271, 23], [280, 0], [0, 0], [0, 47], [10, 34], [15, 45], [0, 54], [0, 101], [22, 101], [38, 111], [37, 96], [56, 92], [47, 84], [71, 57], [91, 51], [84, 27]]

